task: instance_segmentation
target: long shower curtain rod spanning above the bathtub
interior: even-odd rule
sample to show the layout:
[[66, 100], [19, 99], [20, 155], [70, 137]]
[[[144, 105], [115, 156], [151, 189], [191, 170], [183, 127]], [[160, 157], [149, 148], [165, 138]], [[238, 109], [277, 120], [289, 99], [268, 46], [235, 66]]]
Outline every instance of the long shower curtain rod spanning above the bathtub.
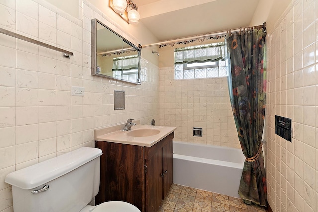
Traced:
[[227, 35], [227, 34], [231, 34], [232, 32], [240, 32], [242, 30], [256, 29], [256, 28], [263, 28], [264, 30], [266, 30], [266, 22], [264, 22], [263, 25], [258, 25], [258, 26], [241, 27], [241, 28], [230, 29], [230, 30], [225, 30], [225, 31], [218, 31], [218, 32], [212, 32], [212, 33], [208, 33], [208, 34], [196, 35], [196, 36], [191, 36], [191, 37], [176, 38], [176, 39], [173, 39], [173, 40], [161, 41], [161, 42], [158, 42], [158, 43], [152, 43], [152, 44], [143, 45], [142, 48], [159, 46], [159, 45], [166, 45], [166, 44], [171, 44], [171, 43], [186, 42], [186, 41], [197, 40], [197, 39], [202, 39], [202, 38], [211, 38], [211, 37], [217, 37], [217, 36], [224, 36], [224, 35]]

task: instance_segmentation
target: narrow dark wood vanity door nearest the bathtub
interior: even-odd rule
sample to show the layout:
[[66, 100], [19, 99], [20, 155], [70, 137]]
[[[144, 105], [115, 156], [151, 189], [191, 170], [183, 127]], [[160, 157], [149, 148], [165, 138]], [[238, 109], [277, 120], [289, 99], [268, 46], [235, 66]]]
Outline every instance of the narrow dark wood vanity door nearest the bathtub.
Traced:
[[173, 183], [173, 144], [172, 140], [163, 146], [163, 197], [168, 194], [168, 191]]

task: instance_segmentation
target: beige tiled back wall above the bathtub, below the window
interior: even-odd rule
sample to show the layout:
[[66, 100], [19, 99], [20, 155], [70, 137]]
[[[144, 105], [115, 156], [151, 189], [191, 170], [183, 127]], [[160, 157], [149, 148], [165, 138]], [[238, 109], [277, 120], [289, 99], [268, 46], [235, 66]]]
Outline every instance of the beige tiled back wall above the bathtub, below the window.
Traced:
[[174, 67], [160, 68], [159, 96], [160, 125], [177, 127], [174, 141], [240, 148], [227, 78], [174, 80]]

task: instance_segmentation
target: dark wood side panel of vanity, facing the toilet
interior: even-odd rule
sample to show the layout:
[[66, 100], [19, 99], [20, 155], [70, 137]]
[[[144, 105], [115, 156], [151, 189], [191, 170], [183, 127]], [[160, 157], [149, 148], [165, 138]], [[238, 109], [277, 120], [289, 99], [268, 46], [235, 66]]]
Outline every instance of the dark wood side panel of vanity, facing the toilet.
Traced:
[[95, 141], [102, 150], [96, 203], [121, 200], [144, 211], [144, 151], [141, 146]]

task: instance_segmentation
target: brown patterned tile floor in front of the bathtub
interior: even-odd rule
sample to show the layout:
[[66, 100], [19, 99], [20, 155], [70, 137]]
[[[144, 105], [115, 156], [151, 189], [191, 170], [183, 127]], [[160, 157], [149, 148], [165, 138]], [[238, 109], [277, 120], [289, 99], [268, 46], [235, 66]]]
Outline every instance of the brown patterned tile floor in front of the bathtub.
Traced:
[[239, 198], [172, 184], [158, 212], [266, 212]]

